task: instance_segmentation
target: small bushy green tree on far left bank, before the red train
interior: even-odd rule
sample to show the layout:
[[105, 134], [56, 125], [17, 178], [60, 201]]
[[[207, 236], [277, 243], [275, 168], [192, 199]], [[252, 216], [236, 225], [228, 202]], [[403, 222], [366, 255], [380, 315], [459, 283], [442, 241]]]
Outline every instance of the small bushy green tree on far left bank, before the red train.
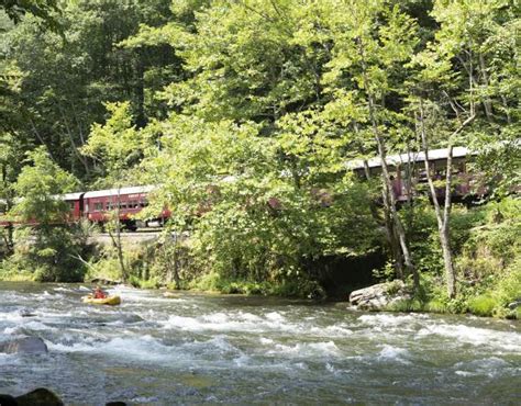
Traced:
[[16, 230], [25, 241], [12, 261], [41, 281], [79, 281], [84, 267], [75, 257], [85, 249], [85, 239], [68, 225], [70, 206], [62, 198], [78, 181], [54, 163], [45, 148], [31, 151], [14, 185], [19, 201], [11, 210], [16, 223], [25, 225]]

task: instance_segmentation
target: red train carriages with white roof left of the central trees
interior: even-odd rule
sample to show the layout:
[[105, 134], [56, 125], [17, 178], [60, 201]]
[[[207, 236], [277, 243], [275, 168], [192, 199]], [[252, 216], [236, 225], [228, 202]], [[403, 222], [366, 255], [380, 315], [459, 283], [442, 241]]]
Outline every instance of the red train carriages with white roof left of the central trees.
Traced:
[[[66, 193], [60, 196], [69, 205], [67, 221], [77, 223], [87, 219], [103, 227], [111, 217], [111, 212], [119, 208], [119, 217], [122, 226], [129, 230], [138, 227], [160, 227], [169, 218], [170, 212], [163, 210], [155, 218], [141, 221], [135, 215], [148, 205], [147, 196], [155, 189], [154, 185], [129, 187], [120, 189], [107, 189], [89, 192]], [[15, 222], [1, 219], [4, 204], [0, 202], [0, 226], [16, 225]]]

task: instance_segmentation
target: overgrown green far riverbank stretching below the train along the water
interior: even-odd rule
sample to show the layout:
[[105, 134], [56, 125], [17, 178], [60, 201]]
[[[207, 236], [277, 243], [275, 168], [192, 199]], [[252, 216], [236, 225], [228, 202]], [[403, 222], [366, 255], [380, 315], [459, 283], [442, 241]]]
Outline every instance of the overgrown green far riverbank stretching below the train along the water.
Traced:
[[[479, 207], [454, 207], [451, 230], [457, 295], [450, 298], [432, 207], [418, 205], [415, 216], [422, 221], [417, 221], [417, 228], [410, 233], [414, 237], [411, 238], [411, 248], [420, 273], [420, 289], [413, 292], [410, 277], [406, 278], [408, 298], [381, 309], [469, 313], [519, 319], [520, 213], [521, 203], [516, 199]], [[81, 238], [85, 239], [85, 235], [80, 234]], [[75, 244], [71, 246], [84, 247]], [[175, 244], [163, 236], [155, 241], [125, 247], [125, 278], [113, 247], [87, 246], [82, 249], [88, 255], [82, 262], [76, 262], [80, 268], [70, 272], [68, 268], [54, 270], [48, 264], [38, 263], [34, 260], [34, 253], [20, 245], [14, 253], [0, 262], [0, 281], [126, 280], [143, 289], [346, 301], [356, 289], [396, 279], [395, 268], [391, 262], [385, 262], [388, 257], [381, 247], [383, 253], [373, 258], [355, 256], [350, 260], [336, 256], [313, 261], [301, 258], [300, 263], [293, 264], [290, 270], [285, 270], [282, 262], [277, 264], [278, 268], [271, 264], [269, 269], [269, 264], [265, 263], [266, 269], [262, 270], [250, 269], [247, 263], [241, 262], [235, 268], [223, 269], [211, 255], [201, 255], [197, 236]], [[77, 255], [69, 252], [69, 257]]]

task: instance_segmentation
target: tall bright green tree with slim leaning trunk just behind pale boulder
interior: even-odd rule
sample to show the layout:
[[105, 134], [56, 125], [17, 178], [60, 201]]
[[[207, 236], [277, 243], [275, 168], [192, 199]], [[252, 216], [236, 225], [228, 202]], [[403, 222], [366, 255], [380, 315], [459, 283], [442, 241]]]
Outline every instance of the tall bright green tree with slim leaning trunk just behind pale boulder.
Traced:
[[351, 126], [351, 133], [355, 134], [352, 145], [365, 156], [376, 149], [381, 162], [387, 238], [398, 274], [402, 273], [403, 262], [418, 287], [418, 272], [398, 214], [386, 159], [389, 149], [399, 145], [397, 134], [406, 124], [397, 90], [403, 84], [403, 65], [417, 45], [417, 25], [398, 7], [391, 8], [385, 1], [322, 4], [323, 12], [319, 14], [322, 18], [315, 22], [321, 30], [311, 25], [308, 35], [318, 32], [331, 44], [331, 60], [322, 76], [325, 92], [331, 94], [326, 114]]

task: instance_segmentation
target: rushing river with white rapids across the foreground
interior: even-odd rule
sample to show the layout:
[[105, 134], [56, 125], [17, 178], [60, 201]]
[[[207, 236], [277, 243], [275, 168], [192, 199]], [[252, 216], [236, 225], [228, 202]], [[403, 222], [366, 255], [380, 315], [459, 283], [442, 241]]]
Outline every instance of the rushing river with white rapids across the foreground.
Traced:
[[[521, 404], [519, 322], [361, 313], [346, 304], [117, 286], [0, 283], [0, 393], [44, 386], [66, 404]], [[27, 317], [29, 314], [29, 317]]]

